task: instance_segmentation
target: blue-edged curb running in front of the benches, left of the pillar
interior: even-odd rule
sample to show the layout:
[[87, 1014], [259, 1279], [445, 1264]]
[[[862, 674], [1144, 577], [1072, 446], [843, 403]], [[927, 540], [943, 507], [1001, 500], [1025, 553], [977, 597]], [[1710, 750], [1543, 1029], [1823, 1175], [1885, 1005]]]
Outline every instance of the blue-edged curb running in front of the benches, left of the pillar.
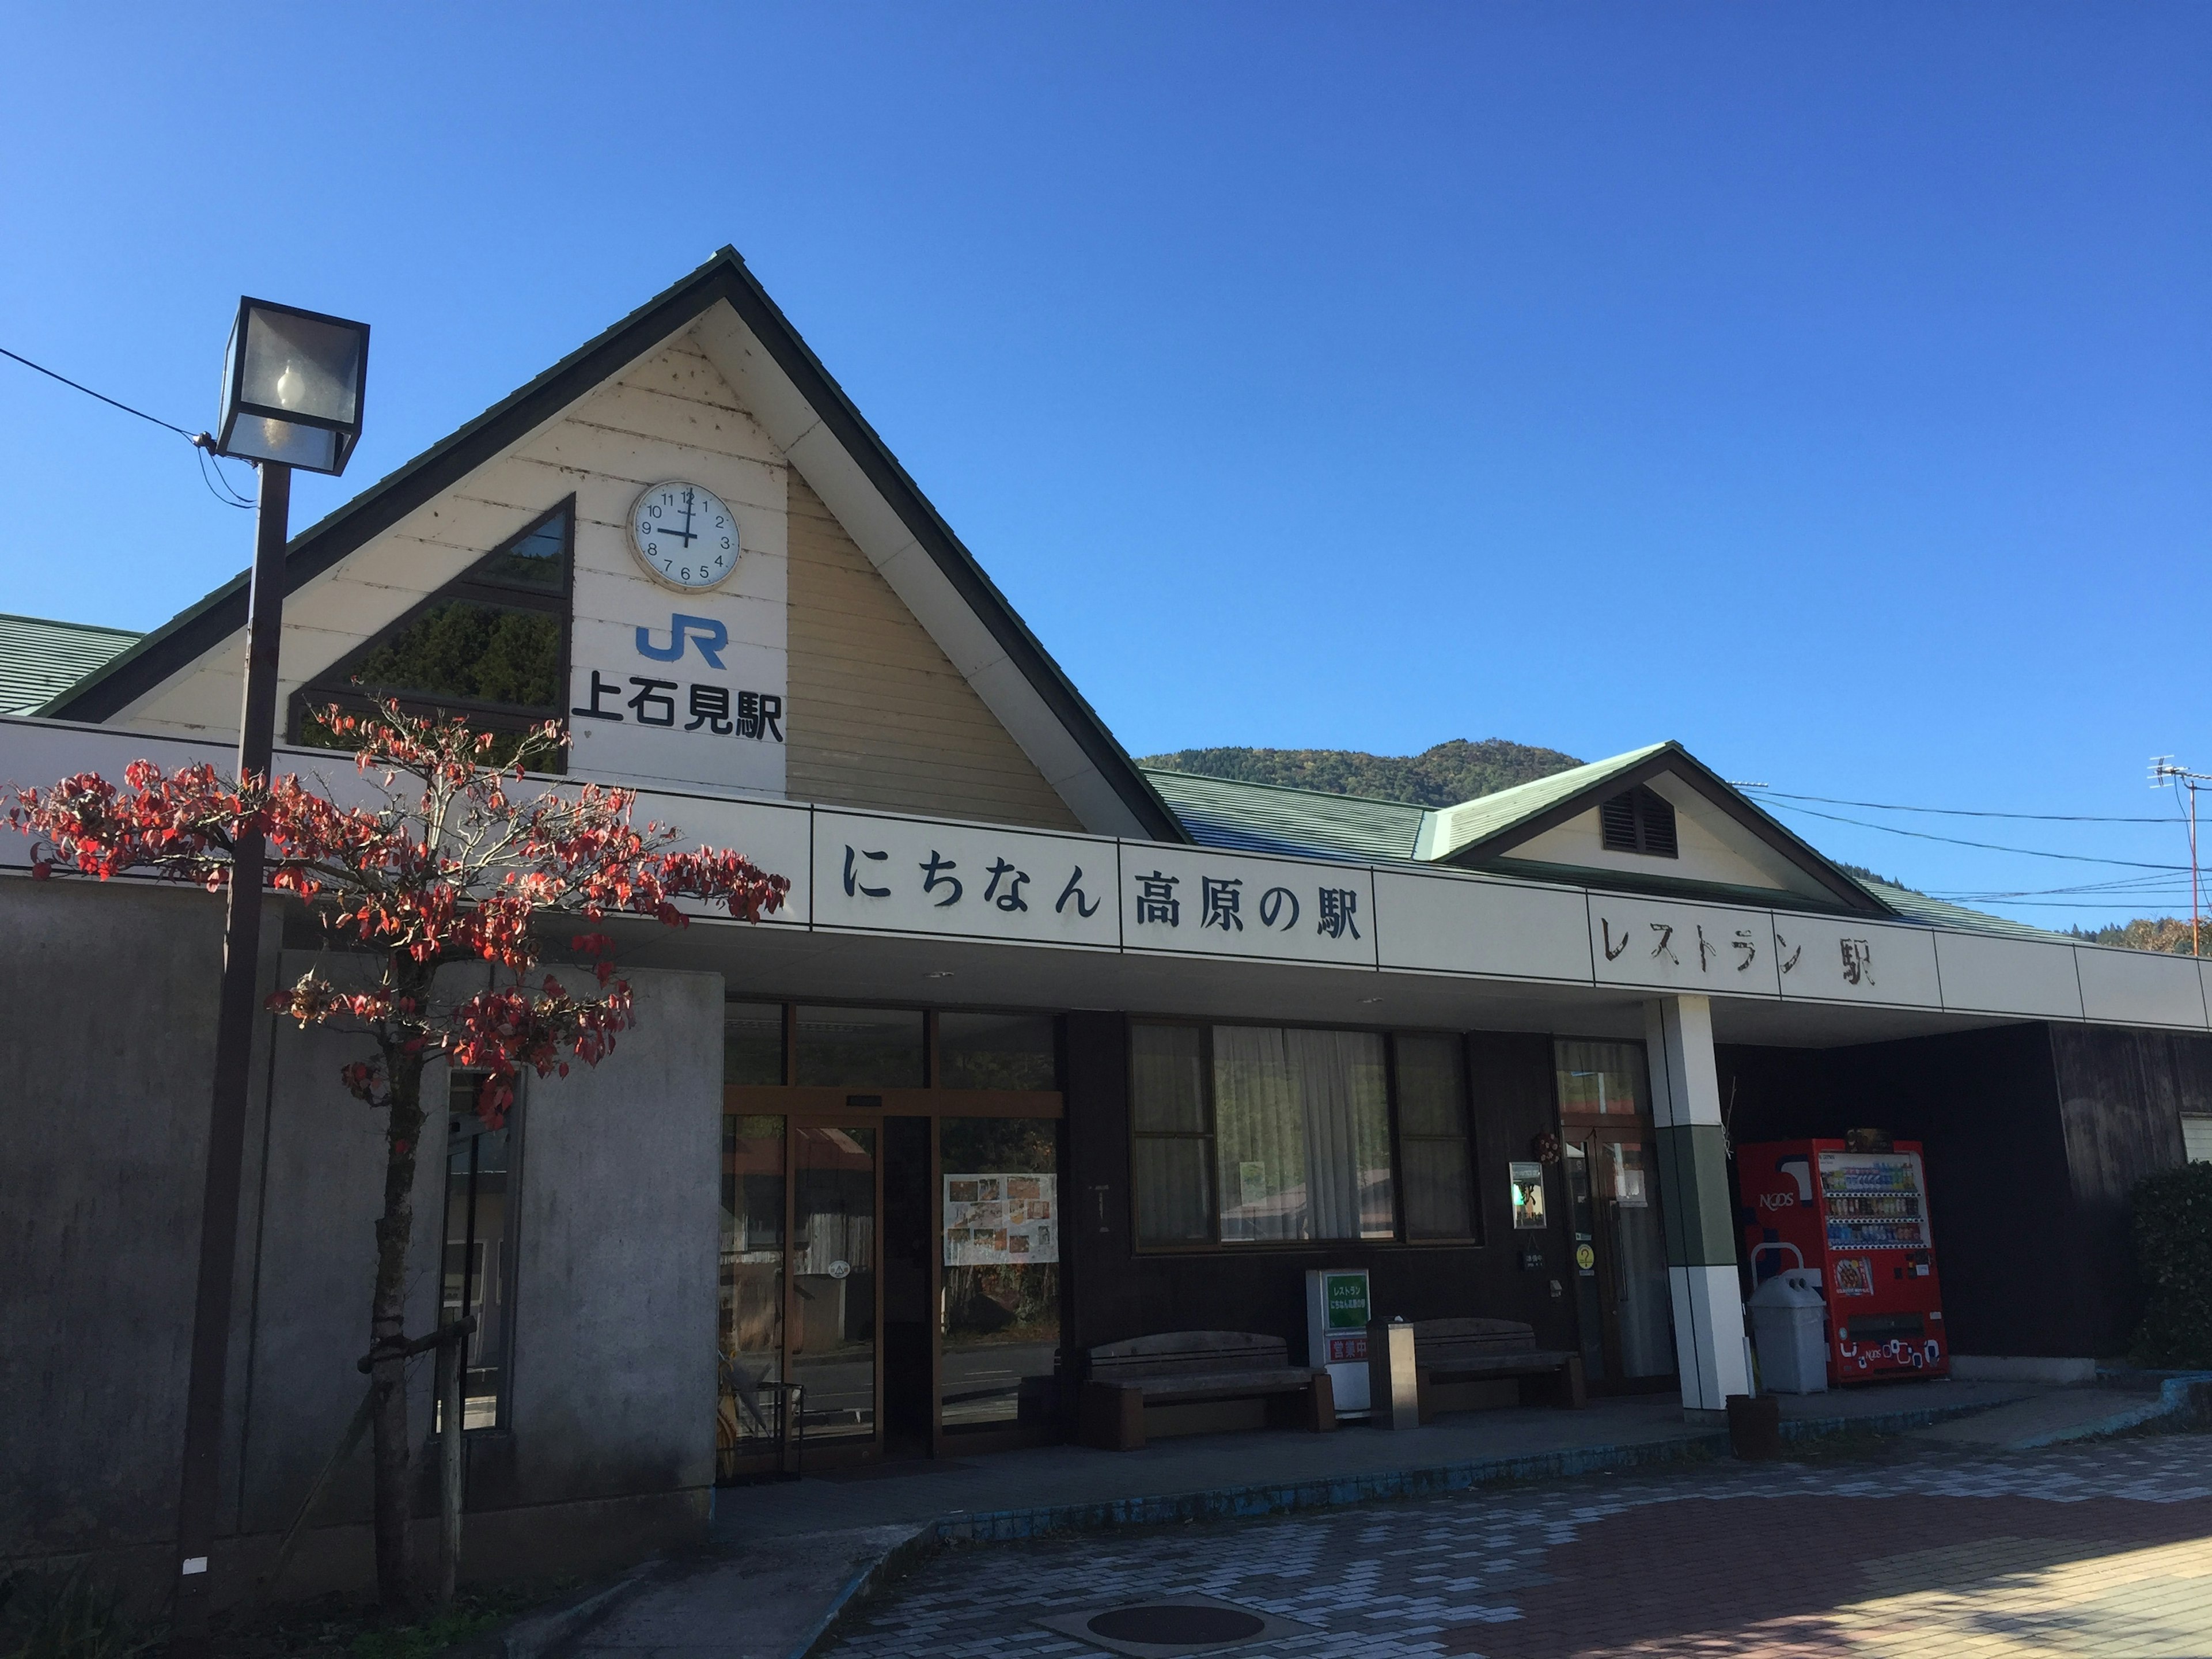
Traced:
[[1688, 1462], [1728, 1451], [1725, 1433], [1677, 1436], [1668, 1440], [1619, 1447], [1579, 1447], [1546, 1451], [1531, 1458], [1491, 1458], [1482, 1462], [1449, 1462], [1427, 1469], [1396, 1469], [1363, 1475], [1334, 1475], [1296, 1484], [1214, 1486], [1208, 1491], [1168, 1493], [1159, 1498], [1108, 1498], [1095, 1504], [1048, 1504], [1042, 1509], [995, 1509], [973, 1515], [947, 1515], [929, 1533], [945, 1544], [1009, 1544], [1046, 1533], [1086, 1533], [1115, 1526], [1166, 1526], [1197, 1520], [1243, 1520], [1252, 1515], [1292, 1515], [1305, 1509], [1340, 1509], [1378, 1498], [1431, 1498], [1511, 1480], [1564, 1480], [1601, 1469], [1639, 1469], [1646, 1464]]

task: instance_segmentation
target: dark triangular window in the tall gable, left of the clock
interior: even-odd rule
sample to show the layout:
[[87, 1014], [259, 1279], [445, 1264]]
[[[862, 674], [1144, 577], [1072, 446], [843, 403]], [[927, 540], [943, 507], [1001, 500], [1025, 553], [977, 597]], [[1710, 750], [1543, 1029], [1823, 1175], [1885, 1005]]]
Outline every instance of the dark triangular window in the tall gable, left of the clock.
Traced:
[[460, 714], [482, 732], [564, 721], [573, 573], [571, 495], [301, 686], [292, 741], [345, 748], [314, 712], [367, 710], [385, 697], [409, 714]]

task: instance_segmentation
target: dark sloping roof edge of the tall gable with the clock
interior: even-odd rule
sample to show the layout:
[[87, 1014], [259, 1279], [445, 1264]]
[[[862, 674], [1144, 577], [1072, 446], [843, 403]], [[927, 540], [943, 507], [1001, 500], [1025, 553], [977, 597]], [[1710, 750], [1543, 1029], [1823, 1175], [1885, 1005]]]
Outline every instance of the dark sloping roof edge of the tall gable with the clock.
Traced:
[[[876, 436], [745, 268], [734, 248], [723, 248], [684, 281], [646, 301], [619, 323], [564, 356], [529, 385], [509, 394], [449, 438], [431, 445], [398, 471], [378, 480], [319, 524], [292, 538], [285, 553], [285, 593], [330, 571], [369, 538], [392, 529], [414, 509], [467, 478], [500, 451], [557, 416], [577, 398], [619, 374], [639, 354], [688, 327], [714, 303], [728, 303], [761, 341], [776, 367], [821, 418], [827, 434], [852, 456], [867, 482], [898, 515], [905, 531], [929, 555], [951, 588], [975, 613], [1006, 659], [1029, 681], [1115, 796], [1159, 841], [1183, 841], [1183, 830], [1166, 803], [1115, 741], [1060, 664], [1044, 650], [1013, 606], [998, 591], [975, 555], [962, 546], [898, 458]], [[246, 626], [246, 573], [215, 588], [195, 606], [170, 617], [135, 646], [77, 679], [38, 712], [55, 719], [104, 721], [135, 699], [199, 661]]]

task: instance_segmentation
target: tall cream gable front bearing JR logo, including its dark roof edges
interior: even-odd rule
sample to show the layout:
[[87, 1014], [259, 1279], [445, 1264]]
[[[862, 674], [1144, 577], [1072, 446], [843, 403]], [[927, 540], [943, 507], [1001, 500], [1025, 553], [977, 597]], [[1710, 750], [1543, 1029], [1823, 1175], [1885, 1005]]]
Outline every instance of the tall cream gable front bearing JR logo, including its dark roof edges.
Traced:
[[[679, 327], [644, 338], [661, 319]], [[639, 349], [613, 361], [624, 338]], [[812, 392], [801, 394], [803, 383]], [[666, 478], [708, 484], [748, 520], [745, 568], [712, 595], [659, 588], [628, 557], [628, 507]], [[573, 719], [575, 772], [1179, 838], [1150, 785], [730, 252], [299, 538], [283, 692], [358, 653], [568, 493], [571, 701], [628, 710], [619, 737], [613, 719]], [[794, 513], [810, 524], [796, 611]], [[675, 650], [666, 668], [641, 661], [686, 644], [684, 615], [721, 630], [721, 661], [701, 661], [708, 650]], [[856, 619], [885, 646], [865, 661], [852, 639], [838, 644]], [[46, 712], [232, 732], [241, 622], [234, 582]], [[830, 657], [790, 664], [792, 628]], [[701, 646], [701, 628], [688, 633]], [[655, 677], [666, 690], [639, 688]], [[726, 765], [701, 763], [719, 721], [699, 728], [686, 717], [699, 708], [697, 688], [714, 695], [710, 677], [728, 686], [732, 710], [739, 697], [754, 708], [796, 697], [810, 717], [785, 708], [781, 726], [712, 750]], [[639, 748], [646, 737], [657, 752]]]

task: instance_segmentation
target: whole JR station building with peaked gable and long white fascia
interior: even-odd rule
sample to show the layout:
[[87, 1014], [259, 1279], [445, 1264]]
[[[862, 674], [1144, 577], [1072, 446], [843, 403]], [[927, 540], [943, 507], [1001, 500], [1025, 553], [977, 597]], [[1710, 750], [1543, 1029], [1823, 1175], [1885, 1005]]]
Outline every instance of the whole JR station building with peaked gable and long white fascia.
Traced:
[[[712, 580], [639, 553], [655, 491], [728, 515]], [[1719, 1411], [1756, 1139], [1922, 1141], [1922, 1336], [2088, 1376], [2130, 1329], [2126, 1194], [2212, 1121], [2199, 962], [1854, 878], [1672, 741], [1451, 807], [1135, 765], [728, 250], [288, 571], [279, 770], [349, 770], [301, 721], [367, 692], [562, 719], [571, 776], [792, 880], [759, 925], [626, 933], [639, 1029], [507, 1128], [449, 1084], [409, 1329], [482, 1321], [473, 1571], [697, 1537], [801, 1431], [814, 1469], [1064, 1438], [1104, 1343], [1296, 1360], [1316, 1267]], [[228, 763], [243, 626], [243, 575], [135, 639], [0, 622], [0, 781]], [[0, 1555], [159, 1582], [221, 905], [0, 858]], [[312, 949], [279, 907], [268, 982]], [[237, 1559], [361, 1389], [383, 1144], [352, 1057], [279, 1020], [257, 1057]], [[365, 1522], [361, 1458], [294, 1588], [367, 1582]]]

